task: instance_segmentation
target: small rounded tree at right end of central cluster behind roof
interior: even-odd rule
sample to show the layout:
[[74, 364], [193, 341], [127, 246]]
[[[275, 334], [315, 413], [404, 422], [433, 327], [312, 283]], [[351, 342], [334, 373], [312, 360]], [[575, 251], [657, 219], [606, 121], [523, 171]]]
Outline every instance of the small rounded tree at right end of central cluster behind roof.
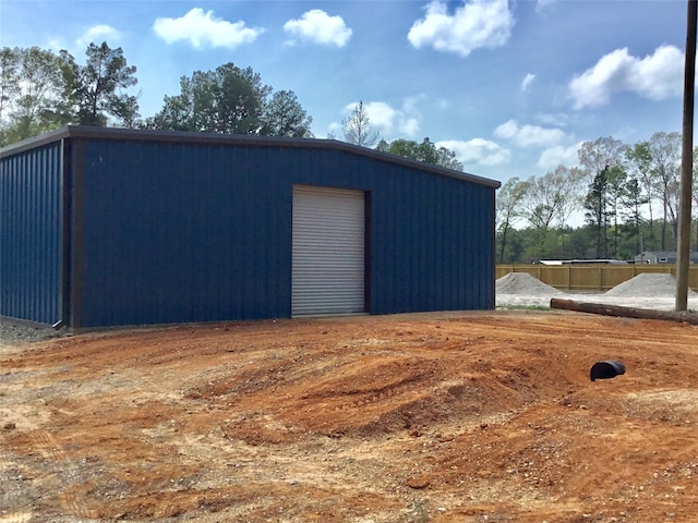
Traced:
[[292, 90], [278, 90], [264, 106], [260, 134], [311, 138], [311, 123], [313, 119], [302, 108], [296, 94]]

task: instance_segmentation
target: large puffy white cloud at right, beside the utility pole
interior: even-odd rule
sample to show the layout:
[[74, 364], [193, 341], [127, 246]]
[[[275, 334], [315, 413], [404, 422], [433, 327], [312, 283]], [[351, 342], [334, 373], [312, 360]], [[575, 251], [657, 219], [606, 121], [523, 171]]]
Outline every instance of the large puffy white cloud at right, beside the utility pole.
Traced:
[[627, 48], [601, 57], [597, 64], [568, 84], [575, 109], [607, 104], [614, 93], [637, 93], [662, 100], [683, 90], [684, 53], [661, 46], [645, 58], [631, 57]]

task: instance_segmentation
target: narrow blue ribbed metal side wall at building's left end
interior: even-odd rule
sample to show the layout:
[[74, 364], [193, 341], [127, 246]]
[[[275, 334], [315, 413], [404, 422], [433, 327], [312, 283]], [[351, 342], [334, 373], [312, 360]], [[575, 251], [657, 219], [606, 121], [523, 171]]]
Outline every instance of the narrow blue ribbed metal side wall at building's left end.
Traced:
[[0, 159], [0, 315], [62, 319], [62, 147]]

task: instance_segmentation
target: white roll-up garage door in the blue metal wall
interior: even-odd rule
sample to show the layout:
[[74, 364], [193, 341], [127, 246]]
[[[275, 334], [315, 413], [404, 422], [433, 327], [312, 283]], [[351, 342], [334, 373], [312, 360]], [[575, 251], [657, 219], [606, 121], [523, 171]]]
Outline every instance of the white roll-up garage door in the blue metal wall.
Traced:
[[293, 186], [291, 314], [362, 313], [362, 191]]

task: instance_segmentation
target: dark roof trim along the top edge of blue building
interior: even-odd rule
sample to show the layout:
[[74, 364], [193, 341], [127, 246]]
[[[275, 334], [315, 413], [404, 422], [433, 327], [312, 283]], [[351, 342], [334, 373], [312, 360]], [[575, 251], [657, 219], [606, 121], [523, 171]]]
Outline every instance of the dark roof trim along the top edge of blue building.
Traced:
[[456, 178], [458, 180], [498, 188], [502, 183], [489, 178], [478, 177], [453, 169], [424, 163], [401, 156], [382, 153], [358, 145], [347, 144], [336, 139], [322, 138], [289, 138], [285, 136], [256, 136], [249, 134], [215, 134], [215, 133], [195, 133], [184, 131], [154, 131], [154, 130], [135, 130], [135, 129], [118, 129], [118, 127], [96, 127], [88, 125], [68, 125], [46, 134], [41, 134], [32, 138], [23, 139], [16, 144], [8, 145], [0, 149], [0, 158], [15, 155], [25, 150], [34, 149], [43, 145], [58, 142], [64, 138], [103, 138], [103, 139], [124, 139], [137, 142], [173, 142], [186, 144], [219, 144], [219, 145], [248, 145], [248, 146], [267, 146], [267, 147], [285, 147], [285, 148], [311, 148], [311, 149], [332, 149], [340, 150], [351, 155], [374, 158], [389, 163], [397, 163], [420, 171], [440, 174], [443, 177]]

